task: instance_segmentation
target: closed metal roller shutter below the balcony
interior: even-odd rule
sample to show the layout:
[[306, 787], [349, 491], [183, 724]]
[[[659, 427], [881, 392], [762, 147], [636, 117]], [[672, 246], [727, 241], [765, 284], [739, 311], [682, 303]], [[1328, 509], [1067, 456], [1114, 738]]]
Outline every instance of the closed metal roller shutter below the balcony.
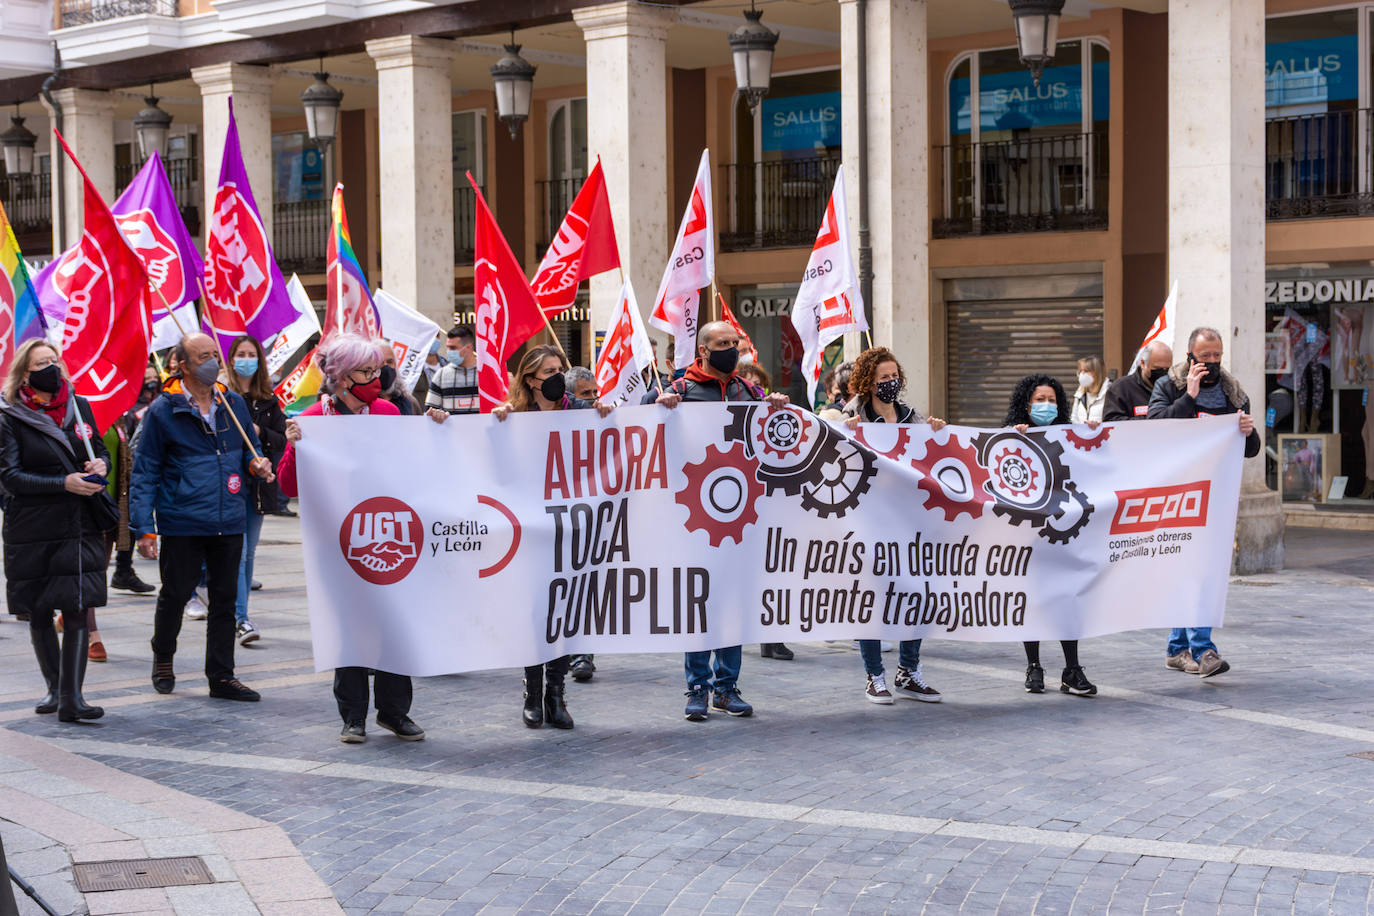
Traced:
[[[1073, 397], [1077, 361], [1102, 354], [1101, 279], [1096, 287], [1074, 290], [1096, 291], [1095, 297], [951, 301], [947, 295], [945, 419], [960, 426], [1002, 426], [1011, 389], [1024, 376], [1037, 372], [1059, 379], [1068, 396]], [[947, 288], [956, 297], [978, 291], [982, 290]]]

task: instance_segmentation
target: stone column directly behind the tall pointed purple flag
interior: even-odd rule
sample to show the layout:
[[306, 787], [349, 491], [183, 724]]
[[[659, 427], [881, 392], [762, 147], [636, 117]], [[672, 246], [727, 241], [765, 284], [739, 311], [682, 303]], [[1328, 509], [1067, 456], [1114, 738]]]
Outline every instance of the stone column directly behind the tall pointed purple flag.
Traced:
[[214, 192], [220, 185], [224, 137], [229, 132], [229, 98], [234, 98], [234, 121], [239, 129], [243, 169], [249, 174], [253, 201], [258, 205], [262, 228], [272, 238], [272, 74], [267, 67], [246, 63], [214, 63], [191, 70], [201, 87], [201, 176], [205, 188], [202, 222], [210, 225]]

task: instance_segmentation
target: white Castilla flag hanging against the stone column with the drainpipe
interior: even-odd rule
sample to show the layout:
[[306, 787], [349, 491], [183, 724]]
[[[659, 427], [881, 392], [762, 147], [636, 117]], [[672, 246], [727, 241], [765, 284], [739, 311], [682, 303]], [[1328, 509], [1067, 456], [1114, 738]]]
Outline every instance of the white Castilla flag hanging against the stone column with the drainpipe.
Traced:
[[816, 233], [816, 243], [801, 277], [801, 288], [791, 305], [791, 324], [801, 338], [801, 371], [807, 376], [809, 402], [816, 402], [820, 360], [826, 345], [849, 331], [867, 331], [868, 319], [859, 294], [849, 247], [849, 210], [845, 205], [845, 170], [835, 173], [835, 188], [826, 205], [826, 218]]

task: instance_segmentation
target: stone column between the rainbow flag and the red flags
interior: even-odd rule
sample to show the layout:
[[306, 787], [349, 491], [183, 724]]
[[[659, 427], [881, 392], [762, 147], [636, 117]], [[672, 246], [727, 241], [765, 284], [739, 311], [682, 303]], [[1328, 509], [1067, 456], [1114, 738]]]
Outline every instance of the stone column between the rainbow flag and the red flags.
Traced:
[[[367, 43], [376, 63], [382, 287], [453, 324], [453, 43]], [[514, 190], [519, 194], [521, 190]]]

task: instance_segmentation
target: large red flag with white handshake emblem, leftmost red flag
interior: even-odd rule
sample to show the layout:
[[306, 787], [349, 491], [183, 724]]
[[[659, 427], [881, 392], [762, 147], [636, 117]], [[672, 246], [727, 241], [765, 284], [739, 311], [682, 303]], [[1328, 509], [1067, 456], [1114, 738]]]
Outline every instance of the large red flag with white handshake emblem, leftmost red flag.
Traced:
[[62, 135], [58, 143], [81, 172], [85, 225], [67, 265], [71, 277], [62, 358], [76, 393], [106, 430], [139, 398], [153, 339], [148, 273]]

